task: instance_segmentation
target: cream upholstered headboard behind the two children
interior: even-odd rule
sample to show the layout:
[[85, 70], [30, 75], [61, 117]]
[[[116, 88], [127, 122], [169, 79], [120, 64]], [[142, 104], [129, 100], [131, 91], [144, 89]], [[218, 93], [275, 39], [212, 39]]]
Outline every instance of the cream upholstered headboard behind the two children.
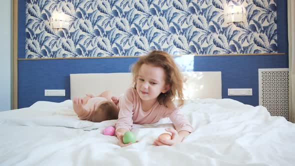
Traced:
[[[183, 86], [185, 99], [221, 98], [220, 71], [182, 72], [186, 79]], [[84, 96], [86, 93], [99, 94], [110, 90], [119, 95], [132, 86], [130, 72], [118, 73], [79, 73], [70, 74], [70, 98]]]

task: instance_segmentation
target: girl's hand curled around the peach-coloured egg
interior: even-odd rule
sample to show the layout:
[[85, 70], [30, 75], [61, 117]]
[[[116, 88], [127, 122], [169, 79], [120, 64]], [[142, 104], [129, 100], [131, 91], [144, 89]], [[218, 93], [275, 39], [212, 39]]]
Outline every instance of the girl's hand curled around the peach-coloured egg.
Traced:
[[176, 143], [180, 143], [182, 138], [178, 135], [178, 132], [174, 128], [166, 128], [165, 129], [168, 132], [171, 132], [172, 139], [167, 140], [167, 139], [156, 139], [152, 144], [156, 146], [161, 146], [161, 145], [173, 145]]

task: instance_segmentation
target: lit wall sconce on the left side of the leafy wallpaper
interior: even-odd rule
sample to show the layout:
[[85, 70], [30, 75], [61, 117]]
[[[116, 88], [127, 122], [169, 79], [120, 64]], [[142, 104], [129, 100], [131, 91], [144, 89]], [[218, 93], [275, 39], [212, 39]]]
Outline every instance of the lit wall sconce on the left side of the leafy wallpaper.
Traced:
[[66, 28], [69, 26], [70, 16], [63, 12], [54, 12], [51, 17], [52, 28]]

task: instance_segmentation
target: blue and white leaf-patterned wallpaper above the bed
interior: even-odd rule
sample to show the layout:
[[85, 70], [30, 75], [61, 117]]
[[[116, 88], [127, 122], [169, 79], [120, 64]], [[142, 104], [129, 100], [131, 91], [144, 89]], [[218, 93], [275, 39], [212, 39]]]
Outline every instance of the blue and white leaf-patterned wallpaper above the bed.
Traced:
[[[277, 52], [276, 0], [26, 0], [26, 58]], [[224, 4], [247, 22], [224, 23]], [[52, 29], [52, 12], [70, 15]]]

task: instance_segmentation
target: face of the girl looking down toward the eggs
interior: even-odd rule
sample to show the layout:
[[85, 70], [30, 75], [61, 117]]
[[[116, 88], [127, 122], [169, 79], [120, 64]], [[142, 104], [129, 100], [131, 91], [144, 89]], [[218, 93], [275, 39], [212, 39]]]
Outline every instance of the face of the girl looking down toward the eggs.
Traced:
[[165, 71], [162, 67], [142, 64], [136, 80], [136, 91], [142, 100], [154, 100], [169, 88], [165, 85]]

